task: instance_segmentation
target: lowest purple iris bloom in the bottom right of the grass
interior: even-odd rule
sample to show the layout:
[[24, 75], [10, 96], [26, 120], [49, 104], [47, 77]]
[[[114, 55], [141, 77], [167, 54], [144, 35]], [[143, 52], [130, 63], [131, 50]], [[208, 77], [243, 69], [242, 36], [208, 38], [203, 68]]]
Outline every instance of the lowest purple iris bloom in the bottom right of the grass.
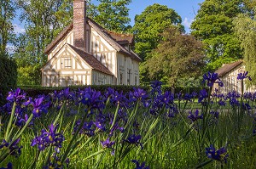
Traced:
[[216, 150], [214, 146], [211, 144], [209, 148], [206, 148], [206, 154], [207, 157], [215, 160], [215, 161], [224, 161], [227, 162], [228, 154], [227, 154], [227, 149], [224, 147]]

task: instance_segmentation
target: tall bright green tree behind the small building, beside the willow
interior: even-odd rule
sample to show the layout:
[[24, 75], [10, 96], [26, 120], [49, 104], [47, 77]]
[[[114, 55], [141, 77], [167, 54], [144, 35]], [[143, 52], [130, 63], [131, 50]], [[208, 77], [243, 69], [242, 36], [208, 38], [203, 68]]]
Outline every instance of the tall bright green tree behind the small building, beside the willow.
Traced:
[[242, 0], [206, 0], [191, 25], [192, 35], [201, 40], [207, 56], [207, 70], [241, 59], [241, 41], [235, 35], [233, 20], [245, 12]]

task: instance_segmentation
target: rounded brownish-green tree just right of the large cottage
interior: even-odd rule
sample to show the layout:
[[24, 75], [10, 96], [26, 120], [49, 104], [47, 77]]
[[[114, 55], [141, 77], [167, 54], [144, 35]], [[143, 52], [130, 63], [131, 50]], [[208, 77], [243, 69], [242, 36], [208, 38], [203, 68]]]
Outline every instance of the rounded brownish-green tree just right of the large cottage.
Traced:
[[161, 36], [163, 40], [146, 61], [151, 80], [174, 86], [180, 78], [201, 75], [205, 60], [200, 41], [182, 34], [177, 27], [168, 28]]

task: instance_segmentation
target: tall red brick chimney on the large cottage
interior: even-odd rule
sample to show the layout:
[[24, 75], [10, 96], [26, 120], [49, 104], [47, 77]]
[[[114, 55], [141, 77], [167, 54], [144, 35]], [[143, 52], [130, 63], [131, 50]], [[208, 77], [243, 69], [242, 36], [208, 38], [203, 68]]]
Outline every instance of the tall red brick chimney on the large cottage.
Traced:
[[73, 0], [73, 44], [85, 51], [86, 0]]

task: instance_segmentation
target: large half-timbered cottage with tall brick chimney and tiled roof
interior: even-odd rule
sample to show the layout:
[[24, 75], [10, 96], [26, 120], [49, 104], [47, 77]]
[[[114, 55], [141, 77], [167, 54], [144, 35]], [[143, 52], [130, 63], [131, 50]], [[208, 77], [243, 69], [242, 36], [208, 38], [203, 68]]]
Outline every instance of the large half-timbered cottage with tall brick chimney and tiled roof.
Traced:
[[138, 85], [141, 59], [133, 35], [107, 31], [86, 17], [86, 1], [73, 0], [73, 23], [45, 48], [42, 86]]

